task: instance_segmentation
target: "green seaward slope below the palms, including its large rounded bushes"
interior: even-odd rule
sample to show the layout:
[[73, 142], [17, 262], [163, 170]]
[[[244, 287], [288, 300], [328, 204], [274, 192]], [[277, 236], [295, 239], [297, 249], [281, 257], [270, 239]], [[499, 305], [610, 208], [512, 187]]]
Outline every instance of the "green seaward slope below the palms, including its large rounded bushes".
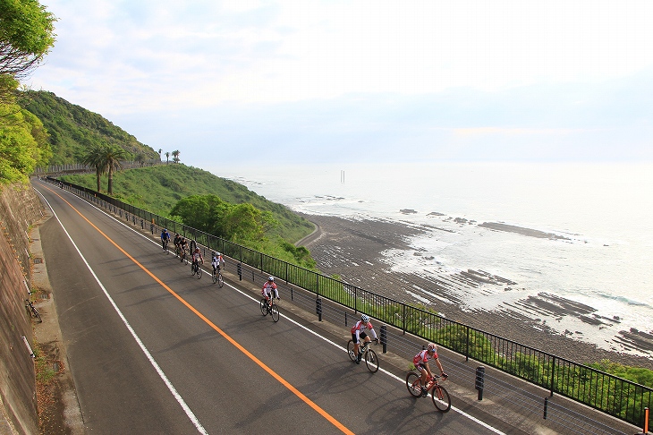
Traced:
[[[315, 267], [310, 252], [293, 245], [313, 231], [313, 224], [240, 183], [182, 164], [126, 169], [113, 176], [114, 197], [119, 200], [280, 260]], [[95, 174], [62, 179], [97, 187]], [[102, 175], [101, 183], [105, 180]]]

